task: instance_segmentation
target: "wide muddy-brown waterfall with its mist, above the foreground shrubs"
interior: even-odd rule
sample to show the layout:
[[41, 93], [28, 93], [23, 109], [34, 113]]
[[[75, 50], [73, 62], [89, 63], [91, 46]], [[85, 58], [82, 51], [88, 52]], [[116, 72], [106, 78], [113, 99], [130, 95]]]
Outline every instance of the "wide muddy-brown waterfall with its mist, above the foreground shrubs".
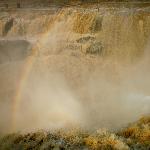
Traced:
[[[14, 130], [113, 128], [149, 113], [149, 26], [144, 8], [0, 14], [2, 40], [32, 45], [16, 50], [0, 44], [0, 54], [9, 49], [0, 55], [0, 112], [6, 116], [0, 129], [8, 132], [12, 119]], [[17, 110], [12, 110], [14, 95], [20, 99]]]

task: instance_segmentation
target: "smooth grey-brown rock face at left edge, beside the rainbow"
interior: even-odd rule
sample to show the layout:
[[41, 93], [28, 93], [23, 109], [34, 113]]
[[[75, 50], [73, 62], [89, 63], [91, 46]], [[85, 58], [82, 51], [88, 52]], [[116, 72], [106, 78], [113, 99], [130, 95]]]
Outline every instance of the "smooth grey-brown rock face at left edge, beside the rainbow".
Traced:
[[0, 64], [23, 60], [31, 54], [31, 44], [25, 40], [1, 40]]

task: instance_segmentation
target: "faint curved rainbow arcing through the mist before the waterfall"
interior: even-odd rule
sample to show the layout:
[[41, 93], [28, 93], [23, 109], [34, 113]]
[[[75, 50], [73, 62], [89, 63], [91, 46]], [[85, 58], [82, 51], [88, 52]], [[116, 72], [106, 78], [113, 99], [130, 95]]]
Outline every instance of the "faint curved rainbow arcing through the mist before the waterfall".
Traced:
[[24, 87], [26, 86], [28, 77], [30, 75], [30, 72], [32, 71], [33, 65], [36, 61], [36, 56], [37, 56], [37, 52], [38, 49], [42, 48], [42, 46], [45, 43], [45, 40], [47, 40], [50, 31], [52, 29], [52, 25], [54, 25], [54, 23], [56, 22], [56, 20], [61, 17], [61, 14], [63, 13], [63, 11], [59, 11], [58, 14], [54, 17], [54, 19], [52, 19], [51, 24], [49, 24], [48, 26], [48, 31], [46, 31], [44, 34], [41, 34], [41, 38], [40, 38], [40, 42], [37, 41], [35, 43], [35, 45], [32, 48], [32, 56], [29, 56], [26, 60], [26, 62], [24, 63], [24, 66], [22, 67], [22, 71], [21, 71], [21, 75], [20, 75], [20, 79], [19, 82], [17, 84], [17, 88], [16, 88], [16, 92], [13, 96], [13, 104], [12, 104], [12, 117], [11, 117], [11, 127], [10, 130], [12, 132], [16, 131], [16, 127], [17, 127], [17, 114], [18, 114], [18, 110], [21, 104], [21, 97], [22, 97], [22, 93], [24, 90]]

